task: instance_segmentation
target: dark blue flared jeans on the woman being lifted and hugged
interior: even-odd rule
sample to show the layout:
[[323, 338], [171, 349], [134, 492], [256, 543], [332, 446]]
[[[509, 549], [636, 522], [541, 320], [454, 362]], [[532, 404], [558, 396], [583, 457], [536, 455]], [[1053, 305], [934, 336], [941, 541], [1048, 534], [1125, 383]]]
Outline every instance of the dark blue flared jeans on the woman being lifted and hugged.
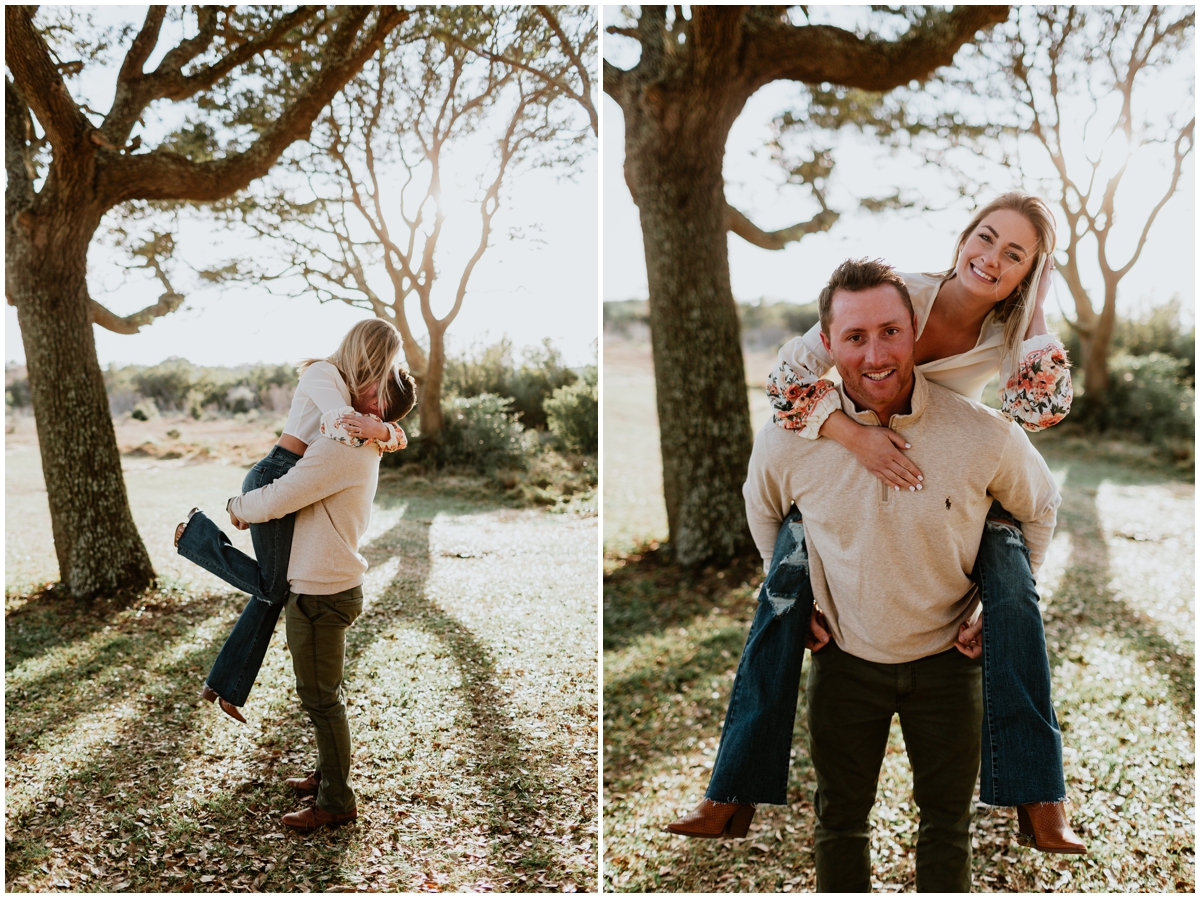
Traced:
[[[246, 474], [241, 491], [250, 492], [277, 480], [300, 457], [274, 447]], [[179, 539], [180, 555], [251, 595], [205, 681], [217, 695], [238, 707], [245, 705], [250, 696], [266, 647], [271, 643], [275, 623], [288, 600], [288, 558], [294, 526], [295, 513], [266, 523], [250, 525], [254, 558], [235, 549], [203, 511], [192, 515]]]

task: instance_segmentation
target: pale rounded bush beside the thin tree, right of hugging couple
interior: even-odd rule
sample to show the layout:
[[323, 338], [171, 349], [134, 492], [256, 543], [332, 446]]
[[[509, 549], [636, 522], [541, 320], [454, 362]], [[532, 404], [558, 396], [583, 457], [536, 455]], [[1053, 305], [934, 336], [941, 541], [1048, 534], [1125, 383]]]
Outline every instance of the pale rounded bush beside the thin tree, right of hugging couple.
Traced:
[[449, 400], [438, 461], [482, 473], [523, 468], [530, 447], [511, 406], [511, 399], [491, 393]]

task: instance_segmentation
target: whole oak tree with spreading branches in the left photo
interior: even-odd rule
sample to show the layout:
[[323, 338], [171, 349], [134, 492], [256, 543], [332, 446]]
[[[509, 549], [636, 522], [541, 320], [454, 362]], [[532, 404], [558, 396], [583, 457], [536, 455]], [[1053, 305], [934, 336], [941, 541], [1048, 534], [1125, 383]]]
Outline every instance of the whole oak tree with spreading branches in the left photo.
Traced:
[[[130, 513], [92, 324], [130, 333], [182, 301], [168, 289], [125, 317], [95, 303], [88, 247], [101, 220], [133, 200], [217, 200], [262, 178], [408, 16], [151, 6], [128, 32], [110, 108], [97, 113], [70, 79], [97, 77], [100, 49], [64, 59], [85, 42], [60, 40], [37, 7], [5, 8], [5, 293], [20, 323], [59, 574], [73, 595], [139, 589], [155, 576]], [[164, 30], [184, 36], [160, 55]], [[256, 90], [238, 83], [246, 73]], [[169, 104], [190, 127], [146, 145], [145, 121]]]

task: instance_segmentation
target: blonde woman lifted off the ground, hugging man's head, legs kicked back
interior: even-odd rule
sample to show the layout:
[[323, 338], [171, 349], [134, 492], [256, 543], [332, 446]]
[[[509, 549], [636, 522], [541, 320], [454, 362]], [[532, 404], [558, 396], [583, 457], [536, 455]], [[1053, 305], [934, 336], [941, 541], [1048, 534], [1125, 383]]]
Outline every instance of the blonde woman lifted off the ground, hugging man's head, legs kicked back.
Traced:
[[[283, 432], [266, 457], [251, 468], [242, 492], [283, 477], [308, 444], [322, 436], [353, 445], [376, 441], [380, 451], [403, 449], [407, 439], [400, 426], [379, 420], [383, 417], [396, 421], [413, 407], [412, 378], [396, 367], [400, 348], [396, 328], [372, 318], [350, 328], [328, 359], [304, 361]], [[280, 611], [287, 604], [294, 523], [295, 515], [289, 514], [250, 525], [254, 558], [235, 549], [197, 509], [175, 529], [180, 555], [251, 594], [200, 693], [242, 723], [239, 708], [246, 704]]]

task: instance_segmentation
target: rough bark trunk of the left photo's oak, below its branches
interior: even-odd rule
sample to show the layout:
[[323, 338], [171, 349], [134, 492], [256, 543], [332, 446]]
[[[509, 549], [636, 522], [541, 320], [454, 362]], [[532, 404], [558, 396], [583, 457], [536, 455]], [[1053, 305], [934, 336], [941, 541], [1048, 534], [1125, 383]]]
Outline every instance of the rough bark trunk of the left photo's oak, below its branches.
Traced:
[[130, 513], [89, 319], [88, 245], [101, 212], [60, 208], [18, 218], [6, 229], [7, 279], [25, 347], [59, 576], [77, 598], [139, 591], [155, 573]]

